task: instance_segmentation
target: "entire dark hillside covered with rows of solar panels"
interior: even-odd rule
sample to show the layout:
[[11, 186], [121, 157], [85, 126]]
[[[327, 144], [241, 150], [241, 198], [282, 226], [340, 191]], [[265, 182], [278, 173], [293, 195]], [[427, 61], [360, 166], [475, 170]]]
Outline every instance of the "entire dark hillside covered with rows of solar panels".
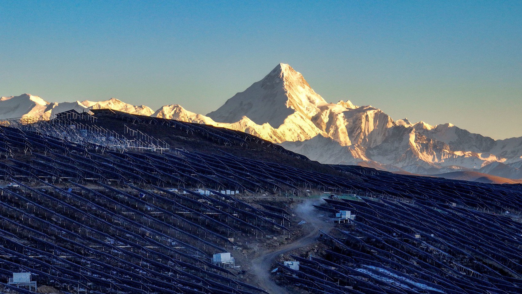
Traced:
[[[322, 165], [242, 132], [111, 110], [1, 125], [4, 292], [30, 272], [48, 293], [263, 293], [252, 258], [307, 230], [319, 250], [282, 252], [299, 269], [272, 264], [292, 292], [522, 286], [520, 185]], [[317, 219], [355, 219], [306, 229], [294, 202], [331, 194]]]

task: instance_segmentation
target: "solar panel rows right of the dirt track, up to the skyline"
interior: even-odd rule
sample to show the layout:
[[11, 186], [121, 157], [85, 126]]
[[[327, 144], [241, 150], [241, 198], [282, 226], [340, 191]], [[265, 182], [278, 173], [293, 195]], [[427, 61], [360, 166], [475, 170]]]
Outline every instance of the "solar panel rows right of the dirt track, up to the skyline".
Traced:
[[357, 217], [322, 232], [324, 254], [292, 255], [299, 270], [280, 264], [284, 279], [318, 293], [520, 293], [520, 185], [337, 168], [377, 197], [324, 199]]

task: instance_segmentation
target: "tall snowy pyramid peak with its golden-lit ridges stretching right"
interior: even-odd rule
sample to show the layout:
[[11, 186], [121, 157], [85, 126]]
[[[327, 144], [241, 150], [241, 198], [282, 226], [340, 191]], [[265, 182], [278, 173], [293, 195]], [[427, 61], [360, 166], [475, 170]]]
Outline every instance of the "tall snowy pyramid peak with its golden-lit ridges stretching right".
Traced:
[[[165, 111], [157, 115], [173, 116]], [[194, 114], [174, 116], [196, 121]], [[509, 156], [508, 163], [520, 161], [522, 155], [522, 139], [518, 147], [516, 140], [500, 146], [449, 123], [394, 121], [372, 106], [342, 100], [328, 104], [302, 74], [284, 63], [208, 116], [211, 119], [197, 120], [249, 132], [327, 163], [371, 161], [396, 170], [437, 173], [442, 168], [481, 168], [506, 161], [502, 154]]]

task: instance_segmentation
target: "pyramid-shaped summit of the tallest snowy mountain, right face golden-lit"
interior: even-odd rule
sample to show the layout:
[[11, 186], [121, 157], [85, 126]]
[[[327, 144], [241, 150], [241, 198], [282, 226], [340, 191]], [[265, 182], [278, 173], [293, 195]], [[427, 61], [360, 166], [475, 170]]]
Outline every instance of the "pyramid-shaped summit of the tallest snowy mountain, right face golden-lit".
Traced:
[[268, 122], [277, 128], [295, 111], [311, 117], [317, 113], [317, 106], [324, 104], [326, 101], [315, 93], [301, 73], [280, 63], [263, 80], [235, 94], [207, 116], [230, 123], [246, 116], [259, 125]]

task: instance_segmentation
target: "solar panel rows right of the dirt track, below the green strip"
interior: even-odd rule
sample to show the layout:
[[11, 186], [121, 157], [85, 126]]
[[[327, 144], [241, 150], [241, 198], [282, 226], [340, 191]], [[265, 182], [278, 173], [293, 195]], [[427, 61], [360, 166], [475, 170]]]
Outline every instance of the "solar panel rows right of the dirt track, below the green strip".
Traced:
[[357, 218], [324, 234], [324, 256], [286, 279], [323, 293], [519, 293], [522, 223], [499, 214], [385, 199], [325, 199]]

